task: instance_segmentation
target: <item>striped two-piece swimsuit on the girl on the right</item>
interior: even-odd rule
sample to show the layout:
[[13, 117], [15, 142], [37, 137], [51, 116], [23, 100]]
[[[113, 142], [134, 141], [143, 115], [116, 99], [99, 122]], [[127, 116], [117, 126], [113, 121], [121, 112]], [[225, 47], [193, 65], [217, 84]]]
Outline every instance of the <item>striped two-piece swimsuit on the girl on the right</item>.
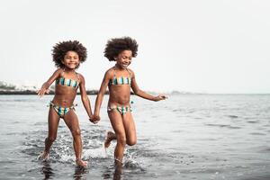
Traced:
[[[109, 80], [109, 86], [111, 85], [131, 85], [131, 75], [130, 76], [120, 76], [116, 77], [115, 76], [115, 71], [116, 69], [113, 67], [114, 72], [113, 72], [113, 78]], [[130, 74], [130, 71], [127, 69], [127, 71]], [[107, 111], [111, 112], [113, 110], [117, 110], [118, 112], [121, 113], [121, 115], [124, 115], [126, 112], [132, 112], [132, 109], [130, 106], [116, 106], [116, 105], [111, 105], [107, 107]]]

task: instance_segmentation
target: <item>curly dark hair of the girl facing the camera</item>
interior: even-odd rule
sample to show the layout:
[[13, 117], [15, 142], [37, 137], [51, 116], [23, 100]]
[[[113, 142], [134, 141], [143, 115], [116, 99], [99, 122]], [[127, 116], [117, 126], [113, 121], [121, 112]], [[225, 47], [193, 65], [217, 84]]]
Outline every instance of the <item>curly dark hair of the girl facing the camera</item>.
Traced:
[[70, 50], [75, 51], [78, 54], [80, 62], [85, 62], [87, 58], [87, 50], [83, 46], [83, 44], [81, 44], [77, 40], [61, 41], [61, 42], [58, 42], [53, 47], [52, 53], [51, 53], [52, 59], [56, 67], [65, 67], [62, 63], [62, 60], [64, 59], [67, 51], [70, 51]]

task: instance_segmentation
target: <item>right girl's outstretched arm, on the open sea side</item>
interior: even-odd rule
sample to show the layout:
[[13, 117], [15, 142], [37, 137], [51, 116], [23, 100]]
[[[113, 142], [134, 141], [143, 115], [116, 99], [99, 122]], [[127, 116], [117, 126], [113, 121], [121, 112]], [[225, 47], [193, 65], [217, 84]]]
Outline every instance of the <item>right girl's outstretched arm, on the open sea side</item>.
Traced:
[[139, 97], [142, 97], [144, 99], [148, 99], [150, 101], [157, 102], [157, 101], [166, 99], [166, 95], [164, 95], [164, 94], [158, 94], [157, 96], [153, 96], [153, 95], [147, 94], [146, 92], [140, 90], [139, 86], [136, 83], [135, 74], [133, 73], [133, 71], [131, 71], [131, 88], [132, 88], [134, 94], [136, 94]]

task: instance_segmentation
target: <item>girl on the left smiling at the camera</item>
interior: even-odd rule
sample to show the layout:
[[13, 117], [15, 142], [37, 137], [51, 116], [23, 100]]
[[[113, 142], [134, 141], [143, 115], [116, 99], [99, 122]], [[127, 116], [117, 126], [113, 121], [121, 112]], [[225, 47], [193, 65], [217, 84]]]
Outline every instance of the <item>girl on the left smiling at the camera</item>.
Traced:
[[55, 81], [55, 95], [49, 103], [48, 137], [45, 139], [45, 149], [40, 154], [39, 158], [41, 160], [49, 159], [49, 148], [57, 138], [58, 123], [60, 118], [62, 118], [73, 136], [76, 165], [85, 167], [87, 166], [87, 163], [81, 158], [81, 130], [79, 128], [79, 122], [73, 102], [76, 97], [77, 88], [79, 88], [85, 110], [90, 119], [93, 117], [90, 101], [85, 91], [85, 78], [75, 71], [81, 62], [85, 62], [87, 57], [86, 49], [76, 40], [62, 41], [53, 47], [52, 57], [58, 69], [38, 91], [38, 95], [40, 96], [48, 93], [49, 85]]

